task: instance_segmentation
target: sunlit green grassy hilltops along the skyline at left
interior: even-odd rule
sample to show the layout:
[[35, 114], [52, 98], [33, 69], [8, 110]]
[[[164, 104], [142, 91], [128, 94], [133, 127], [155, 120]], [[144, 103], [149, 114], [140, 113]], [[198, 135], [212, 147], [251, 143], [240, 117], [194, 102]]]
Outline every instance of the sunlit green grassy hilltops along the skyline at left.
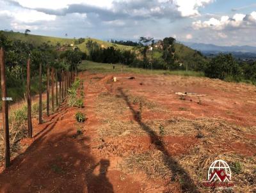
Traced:
[[[71, 38], [56, 38], [56, 37], [51, 37], [51, 36], [40, 36], [40, 35], [25, 36], [24, 33], [19, 33], [19, 32], [9, 32], [9, 31], [2, 31], [2, 32], [4, 33], [4, 35], [8, 36], [11, 40], [26, 41], [28, 43], [31, 43], [35, 47], [41, 45], [44, 42], [49, 43], [50, 45], [53, 45], [53, 46], [56, 45], [58, 42], [61, 43], [61, 45], [64, 45], [64, 44], [70, 45], [70, 43], [74, 43], [74, 39], [71, 39]], [[104, 47], [114, 46], [120, 50], [125, 50], [125, 49], [131, 50], [132, 49], [131, 46], [117, 45], [117, 44], [113, 44], [110, 42], [104, 42], [102, 40], [97, 40], [94, 38], [85, 38], [85, 41], [83, 43], [78, 44], [76, 46], [79, 47], [79, 49], [81, 49], [83, 52], [86, 52], [86, 42], [88, 42], [88, 40], [93, 40], [93, 41], [99, 43], [99, 45], [103, 45]]]

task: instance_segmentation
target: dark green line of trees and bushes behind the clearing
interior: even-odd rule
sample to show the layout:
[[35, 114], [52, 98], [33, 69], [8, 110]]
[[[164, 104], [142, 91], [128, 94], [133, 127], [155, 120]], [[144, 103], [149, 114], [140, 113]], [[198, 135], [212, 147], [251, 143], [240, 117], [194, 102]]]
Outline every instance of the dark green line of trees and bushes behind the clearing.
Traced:
[[[97, 42], [90, 40], [86, 43], [87, 59], [100, 63], [122, 63], [145, 69], [192, 70], [204, 72], [206, 77], [214, 79], [256, 82], [256, 62], [237, 61], [232, 54], [223, 53], [214, 58], [206, 58], [196, 50], [190, 54], [191, 56], [180, 58], [175, 49], [175, 41], [175, 38], [166, 37], [159, 41], [160, 44], [156, 44], [154, 38], [140, 37], [139, 43], [134, 44], [134, 49], [120, 50], [113, 46], [101, 48]], [[120, 44], [122, 43], [124, 42], [120, 41]], [[161, 49], [157, 49], [160, 53], [158, 58], [152, 57], [156, 45], [161, 46]], [[150, 51], [150, 47], [153, 51]], [[183, 51], [183, 48], [181, 49], [180, 52]]]

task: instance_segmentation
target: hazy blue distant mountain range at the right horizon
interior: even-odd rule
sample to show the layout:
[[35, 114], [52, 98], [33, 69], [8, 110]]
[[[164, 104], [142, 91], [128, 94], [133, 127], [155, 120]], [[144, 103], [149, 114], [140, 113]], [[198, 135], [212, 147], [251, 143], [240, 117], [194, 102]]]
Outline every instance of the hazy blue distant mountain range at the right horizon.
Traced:
[[256, 47], [243, 45], [243, 46], [219, 46], [214, 44], [205, 43], [191, 43], [182, 42], [184, 45], [191, 47], [192, 49], [199, 50], [201, 52], [251, 52], [256, 54]]

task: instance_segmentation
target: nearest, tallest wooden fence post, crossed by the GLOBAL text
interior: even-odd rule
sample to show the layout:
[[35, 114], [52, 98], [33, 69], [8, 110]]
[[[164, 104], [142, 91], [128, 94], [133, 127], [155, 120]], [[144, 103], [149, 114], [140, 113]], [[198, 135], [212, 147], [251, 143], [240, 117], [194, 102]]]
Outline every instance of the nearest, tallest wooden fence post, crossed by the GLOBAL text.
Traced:
[[8, 121], [8, 102], [6, 101], [6, 77], [5, 77], [5, 61], [4, 49], [0, 50], [0, 68], [1, 68], [1, 90], [2, 90], [2, 109], [3, 109], [3, 130], [4, 130], [4, 164], [5, 167], [11, 165], [10, 159], [10, 138], [9, 138], [9, 121]]

